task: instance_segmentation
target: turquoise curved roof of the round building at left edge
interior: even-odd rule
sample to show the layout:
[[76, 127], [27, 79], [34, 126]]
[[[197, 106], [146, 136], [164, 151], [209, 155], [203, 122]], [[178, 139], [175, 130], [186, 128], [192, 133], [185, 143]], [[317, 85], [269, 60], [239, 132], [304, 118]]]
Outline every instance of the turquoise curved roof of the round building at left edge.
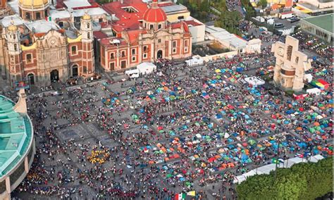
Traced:
[[0, 177], [23, 158], [33, 139], [30, 118], [13, 111], [13, 106], [13, 101], [0, 95]]

